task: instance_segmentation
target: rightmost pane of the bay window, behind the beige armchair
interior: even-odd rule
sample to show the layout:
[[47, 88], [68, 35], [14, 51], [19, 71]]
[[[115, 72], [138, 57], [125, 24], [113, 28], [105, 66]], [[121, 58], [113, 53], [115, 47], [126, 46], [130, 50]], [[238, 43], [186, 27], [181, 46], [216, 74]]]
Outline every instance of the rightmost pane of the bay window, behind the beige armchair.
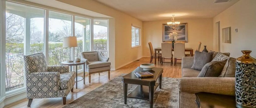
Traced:
[[108, 57], [108, 20], [94, 19], [93, 49]]

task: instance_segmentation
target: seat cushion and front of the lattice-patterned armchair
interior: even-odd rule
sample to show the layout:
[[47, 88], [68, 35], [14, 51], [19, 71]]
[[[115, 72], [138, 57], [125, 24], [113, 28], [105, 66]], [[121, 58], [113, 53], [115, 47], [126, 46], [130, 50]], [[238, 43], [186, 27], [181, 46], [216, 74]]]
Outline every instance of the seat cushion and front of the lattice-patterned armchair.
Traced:
[[74, 71], [68, 73], [61, 73], [61, 89], [73, 88], [73, 82], [76, 78], [76, 74]]

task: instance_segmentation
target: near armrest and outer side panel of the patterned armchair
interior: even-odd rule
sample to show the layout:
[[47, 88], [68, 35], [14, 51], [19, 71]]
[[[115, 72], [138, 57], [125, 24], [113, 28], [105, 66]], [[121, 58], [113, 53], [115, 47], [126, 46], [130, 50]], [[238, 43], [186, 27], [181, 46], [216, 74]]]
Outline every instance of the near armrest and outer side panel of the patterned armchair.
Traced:
[[26, 74], [27, 98], [58, 97], [60, 87], [60, 73], [34, 72]]

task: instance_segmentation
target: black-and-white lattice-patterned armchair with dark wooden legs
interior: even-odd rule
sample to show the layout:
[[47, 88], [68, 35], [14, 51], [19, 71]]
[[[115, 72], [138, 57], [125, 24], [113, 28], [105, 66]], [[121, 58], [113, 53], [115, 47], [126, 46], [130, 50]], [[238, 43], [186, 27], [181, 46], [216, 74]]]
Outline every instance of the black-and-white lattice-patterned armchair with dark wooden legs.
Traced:
[[43, 53], [24, 56], [28, 105], [35, 98], [62, 97], [66, 104], [68, 93], [73, 92], [75, 72], [68, 66], [47, 66]]

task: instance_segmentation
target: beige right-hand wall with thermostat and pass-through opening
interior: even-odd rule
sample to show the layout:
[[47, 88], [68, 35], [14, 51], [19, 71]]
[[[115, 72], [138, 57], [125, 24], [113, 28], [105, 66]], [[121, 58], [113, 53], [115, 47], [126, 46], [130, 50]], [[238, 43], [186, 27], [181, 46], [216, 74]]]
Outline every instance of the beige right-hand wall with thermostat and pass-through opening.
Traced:
[[[220, 21], [220, 29], [231, 27], [231, 44], [220, 44], [221, 52], [230, 52], [231, 57], [240, 57], [241, 50], [252, 50], [256, 57], [256, 0], [240, 0], [213, 18], [213, 46], [218, 50], [218, 36], [215, 23]], [[235, 29], [238, 32], [235, 32]], [[220, 35], [222, 34], [220, 30]]]

